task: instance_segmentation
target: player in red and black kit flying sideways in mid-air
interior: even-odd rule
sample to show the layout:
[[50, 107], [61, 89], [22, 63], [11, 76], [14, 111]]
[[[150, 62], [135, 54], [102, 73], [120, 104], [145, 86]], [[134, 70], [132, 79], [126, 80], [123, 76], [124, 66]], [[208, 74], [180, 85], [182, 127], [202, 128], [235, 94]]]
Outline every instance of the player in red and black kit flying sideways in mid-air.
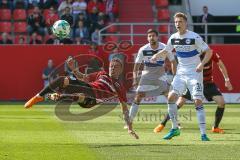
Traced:
[[[91, 108], [98, 104], [98, 100], [118, 97], [121, 104], [125, 123], [128, 126], [129, 134], [138, 139], [137, 134], [132, 130], [127, 107], [126, 90], [119, 82], [119, 76], [123, 71], [123, 62], [118, 58], [113, 58], [109, 64], [109, 74], [99, 71], [89, 75], [79, 72], [74, 68], [72, 58], [67, 60], [69, 68], [73, 71], [75, 79], [70, 77], [58, 77], [37, 95], [31, 98], [25, 108], [31, 108], [34, 104], [44, 100], [44, 96], [49, 94], [51, 100], [71, 99], [83, 108]], [[55, 92], [55, 93], [52, 93]]]

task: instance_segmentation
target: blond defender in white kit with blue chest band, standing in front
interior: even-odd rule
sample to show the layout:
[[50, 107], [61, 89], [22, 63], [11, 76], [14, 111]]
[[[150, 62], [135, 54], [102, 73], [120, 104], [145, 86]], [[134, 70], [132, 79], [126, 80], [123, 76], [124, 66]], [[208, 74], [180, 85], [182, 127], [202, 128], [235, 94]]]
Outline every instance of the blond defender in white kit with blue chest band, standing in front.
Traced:
[[[211, 58], [212, 51], [197, 33], [187, 30], [187, 16], [184, 13], [176, 13], [174, 22], [177, 32], [171, 35], [164, 50], [151, 58], [152, 62], [156, 62], [159, 58], [164, 58], [169, 52], [175, 50], [178, 59], [177, 73], [172, 82], [172, 90], [168, 95], [168, 112], [172, 120], [172, 129], [164, 136], [164, 139], [180, 135], [176, 101], [186, 89], [189, 89], [197, 111], [201, 140], [209, 141], [206, 135], [205, 111], [202, 104], [202, 70]], [[205, 52], [205, 56], [201, 61], [199, 56], [202, 52]]]

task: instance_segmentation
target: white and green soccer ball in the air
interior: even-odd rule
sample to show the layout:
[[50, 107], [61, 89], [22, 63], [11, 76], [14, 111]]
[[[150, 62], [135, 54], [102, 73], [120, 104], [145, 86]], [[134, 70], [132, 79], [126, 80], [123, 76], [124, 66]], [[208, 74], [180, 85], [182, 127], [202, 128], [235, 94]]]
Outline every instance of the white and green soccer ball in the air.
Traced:
[[65, 20], [58, 20], [53, 24], [52, 32], [60, 39], [67, 38], [70, 33], [70, 25]]

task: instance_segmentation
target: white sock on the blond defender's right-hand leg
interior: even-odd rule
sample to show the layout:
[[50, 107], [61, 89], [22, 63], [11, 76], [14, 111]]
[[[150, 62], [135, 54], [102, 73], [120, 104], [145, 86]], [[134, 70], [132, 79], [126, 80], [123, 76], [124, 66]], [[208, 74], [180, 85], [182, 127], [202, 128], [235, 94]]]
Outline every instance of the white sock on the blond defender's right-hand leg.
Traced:
[[206, 120], [205, 120], [206, 115], [203, 105], [197, 106], [196, 111], [200, 132], [201, 134], [206, 134]]

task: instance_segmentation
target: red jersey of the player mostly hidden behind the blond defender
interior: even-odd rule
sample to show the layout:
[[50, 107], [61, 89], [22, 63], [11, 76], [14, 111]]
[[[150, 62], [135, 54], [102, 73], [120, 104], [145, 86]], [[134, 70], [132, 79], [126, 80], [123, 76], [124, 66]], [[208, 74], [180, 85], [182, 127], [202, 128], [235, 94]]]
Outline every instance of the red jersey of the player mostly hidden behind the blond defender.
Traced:
[[[201, 55], [201, 60], [203, 59], [204, 54]], [[208, 63], [204, 65], [203, 68], [203, 83], [213, 83], [213, 62], [218, 63], [220, 60], [220, 56], [217, 53], [212, 54], [211, 59]]]

